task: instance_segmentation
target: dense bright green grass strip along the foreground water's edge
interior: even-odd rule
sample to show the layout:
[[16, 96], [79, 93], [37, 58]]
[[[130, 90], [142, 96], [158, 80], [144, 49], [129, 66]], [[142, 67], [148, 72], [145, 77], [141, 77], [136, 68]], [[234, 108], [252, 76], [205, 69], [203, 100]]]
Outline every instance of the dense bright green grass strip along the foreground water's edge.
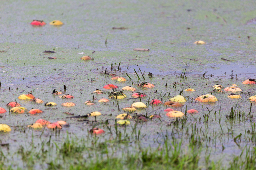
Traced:
[[[157, 148], [142, 148], [140, 143], [131, 149], [128, 145], [112, 145], [114, 141], [106, 140], [98, 142], [98, 137], [91, 136], [88, 140], [77, 141], [77, 138], [69, 139], [61, 145], [34, 145], [32, 142], [28, 149], [20, 146], [17, 154], [21, 156], [23, 166], [16, 168], [13, 165], [5, 165], [5, 156], [0, 152], [0, 169], [35, 169], [40, 163], [42, 169], [69, 169], [69, 170], [123, 170], [123, 169], [255, 169], [256, 168], [256, 147], [245, 146], [239, 156], [234, 156], [229, 167], [222, 167], [220, 162], [210, 161], [211, 153], [202, 154], [202, 145], [197, 145], [193, 135], [189, 145], [184, 145], [182, 140], [163, 136], [163, 143]], [[200, 139], [199, 139], [200, 140]], [[93, 145], [91, 145], [92, 143]], [[113, 143], [114, 142], [114, 143]], [[53, 142], [54, 143], [54, 142]], [[81, 145], [82, 144], [82, 145]], [[55, 149], [54, 149], [55, 148]], [[113, 151], [123, 148], [121, 155], [115, 155]], [[184, 149], [185, 148], [185, 149]], [[102, 152], [102, 150], [106, 150]], [[207, 152], [207, 151], [206, 151]], [[79, 155], [79, 156], [78, 156]], [[87, 155], [87, 156], [86, 156]], [[199, 166], [204, 155], [204, 166]], [[71, 160], [68, 158], [72, 158]], [[202, 164], [202, 162], [201, 162]]]

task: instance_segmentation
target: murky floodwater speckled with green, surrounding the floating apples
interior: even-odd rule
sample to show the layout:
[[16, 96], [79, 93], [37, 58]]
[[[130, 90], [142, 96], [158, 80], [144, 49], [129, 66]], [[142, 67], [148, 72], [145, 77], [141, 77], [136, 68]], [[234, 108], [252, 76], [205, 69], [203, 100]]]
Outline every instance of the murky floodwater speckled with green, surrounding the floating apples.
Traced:
[[[247, 99], [255, 95], [254, 86], [242, 84], [248, 78], [256, 78], [256, 37], [254, 36], [256, 25], [246, 24], [248, 20], [256, 17], [255, 6], [253, 0], [2, 1], [0, 3], [0, 107], [8, 110], [5, 105], [17, 100], [28, 110], [37, 108], [44, 111], [37, 115], [28, 113], [19, 115], [8, 111], [2, 114], [0, 123], [8, 124], [12, 128], [9, 133], [1, 133], [1, 142], [9, 143], [9, 150], [0, 146], [8, 159], [6, 165], [24, 166], [20, 156], [13, 158], [12, 154], [16, 153], [20, 145], [28, 147], [32, 139], [36, 144], [41, 144], [42, 140], [46, 141], [52, 135], [52, 141], [61, 144], [67, 132], [79, 139], [87, 137], [87, 130], [92, 128], [95, 118], [89, 117], [89, 122], [77, 121], [67, 118], [69, 115], [63, 112], [86, 115], [92, 111], [100, 111], [102, 116], [97, 117], [97, 121], [108, 120], [109, 124], [115, 124], [115, 116], [123, 113], [119, 108], [128, 107], [140, 100], [131, 97], [133, 92], [124, 92], [128, 97], [119, 100], [119, 103], [116, 101], [98, 103], [100, 98], [108, 98], [108, 92], [111, 92], [104, 90], [103, 86], [115, 84], [120, 90], [124, 86], [137, 88], [136, 84], [147, 81], [155, 84], [156, 87], [137, 88], [137, 91], [148, 95], [142, 98], [142, 102], [147, 103], [149, 98], [163, 99], [163, 102], [166, 102], [181, 93], [188, 102], [178, 110], [185, 112], [187, 107], [199, 111], [194, 117], [188, 117], [187, 126], [196, 124], [204, 133], [209, 132], [208, 138], [212, 135], [215, 139], [214, 143], [208, 145], [206, 139], [202, 141], [205, 152], [202, 153], [201, 162], [204, 155], [209, 154], [207, 148], [210, 147], [212, 149], [210, 160], [218, 162], [223, 158], [221, 164], [228, 166], [232, 156], [240, 155], [243, 147], [250, 143], [247, 139], [251, 136], [244, 131], [251, 130], [251, 122], [255, 121], [254, 117], [252, 120], [246, 117], [242, 122], [230, 122], [225, 117], [231, 106], [236, 105], [236, 110], [247, 115], [251, 104]], [[47, 25], [33, 27], [30, 25], [33, 19], [44, 20]], [[49, 25], [54, 19], [62, 21], [64, 25]], [[112, 29], [112, 27], [126, 29]], [[195, 45], [193, 42], [196, 40], [203, 40], [206, 44]], [[134, 51], [134, 48], [150, 50]], [[2, 50], [4, 52], [1, 52]], [[56, 53], [42, 53], [45, 50], [53, 50]], [[83, 55], [77, 53], [81, 52], [94, 60], [80, 60]], [[57, 59], [51, 60], [48, 57], [57, 57]], [[119, 63], [121, 69], [118, 71]], [[111, 64], [113, 64], [112, 70]], [[139, 68], [142, 73], [145, 71], [145, 80]], [[139, 80], [134, 74], [134, 69], [140, 77]], [[233, 79], [231, 79], [231, 70], [233, 70]], [[105, 71], [107, 74], [104, 74]], [[148, 77], [149, 72], [153, 74], [152, 78]], [[131, 81], [126, 73], [131, 77]], [[186, 78], [180, 77], [181, 73]], [[123, 76], [128, 81], [122, 83], [112, 81], [109, 74]], [[213, 93], [219, 100], [214, 104], [196, 103], [193, 100], [197, 96], [210, 94], [215, 84], [221, 84], [223, 87], [237, 84], [243, 90], [243, 93], [239, 93], [242, 98], [232, 100], [227, 97], [229, 93]], [[61, 103], [66, 100], [51, 94], [53, 89], [63, 91], [64, 85], [67, 86], [66, 93], [75, 97], [72, 99], [72, 102], [76, 103], [75, 107], [62, 107]], [[106, 93], [101, 96], [92, 94], [96, 88]], [[188, 93], [184, 91], [186, 88], [196, 89], [196, 92]], [[42, 99], [44, 103], [47, 101], [57, 103], [57, 107], [47, 108], [44, 104], [18, 99], [18, 96], [28, 92]], [[83, 104], [87, 100], [94, 100], [95, 105]], [[255, 103], [252, 103], [253, 115], [255, 107]], [[136, 112], [162, 116], [161, 121], [140, 124], [141, 136], [145, 135], [140, 139], [143, 147], [156, 148], [159, 144], [150, 138], [155, 139], [159, 133], [166, 131], [171, 134], [173, 126], [167, 125], [174, 120], [165, 116], [164, 109], [163, 105], [149, 106], [146, 110]], [[212, 111], [209, 124], [206, 124], [203, 123], [203, 116], [209, 113], [208, 110]], [[219, 110], [220, 114], [218, 114]], [[214, 116], [215, 111], [217, 114]], [[70, 127], [64, 127], [59, 136], [48, 129], [42, 133], [40, 130], [27, 128], [28, 124], [34, 123], [39, 118], [51, 122], [64, 120], [70, 124]], [[201, 123], [198, 122], [199, 118]], [[131, 120], [132, 125], [135, 123], [135, 120]], [[99, 124], [99, 128], [108, 131], [102, 124]], [[120, 131], [123, 132], [124, 128], [120, 127]], [[126, 131], [132, 131], [131, 126], [127, 126]], [[177, 128], [175, 131], [177, 132], [175, 137], [183, 140], [182, 145], [186, 146], [189, 139], [185, 135], [185, 130]], [[221, 137], [220, 131], [222, 131]], [[232, 137], [229, 138], [230, 131]], [[191, 129], [188, 133], [190, 132]], [[243, 133], [243, 140], [240, 140], [238, 146], [233, 138], [240, 133]], [[39, 138], [41, 135], [43, 139]], [[111, 134], [107, 132], [99, 138], [100, 141], [104, 141], [111, 138]], [[158, 139], [160, 144], [163, 143], [162, 139]], [[225, 146], [224, 150], [222, 146]], [[45, 162], [51, 160], [52, 158], [48, 158]], [[44, 169], [47, 166], [45, 162], [43, 166], [35, 165], [35, 167]]]

